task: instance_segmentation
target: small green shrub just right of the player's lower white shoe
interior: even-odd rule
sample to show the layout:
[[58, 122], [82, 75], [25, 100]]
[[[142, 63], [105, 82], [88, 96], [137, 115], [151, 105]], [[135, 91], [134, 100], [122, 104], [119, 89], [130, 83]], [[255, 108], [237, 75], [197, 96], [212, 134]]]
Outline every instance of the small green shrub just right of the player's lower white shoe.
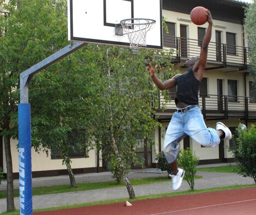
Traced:
[[188, 182], [191, 190], [194, 190], [194, 180], [198, 162], [199, 157], [193, 153], [190, 147], [179, 151], [177, 163], [179, 166], [181, 166], [182, 169], [185, 170], [184, 180]]

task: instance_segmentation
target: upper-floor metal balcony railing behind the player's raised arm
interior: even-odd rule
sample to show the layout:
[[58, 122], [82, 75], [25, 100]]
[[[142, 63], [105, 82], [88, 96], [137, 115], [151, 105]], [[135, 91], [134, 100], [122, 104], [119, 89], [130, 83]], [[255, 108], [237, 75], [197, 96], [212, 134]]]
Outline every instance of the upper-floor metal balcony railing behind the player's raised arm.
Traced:
[[[181, 62], [181, 58], [200, 55], [201, 40], [173, 37], [170, 35], [164, 35], [163, 39], [164, 49], [174, 49], [173, 57], [176, 58], [178, 63]], [[227, 64], [246, 65], [247, 55], [248, 47], [210, 42], [207, 60], [222, 63], [224, 67]]]

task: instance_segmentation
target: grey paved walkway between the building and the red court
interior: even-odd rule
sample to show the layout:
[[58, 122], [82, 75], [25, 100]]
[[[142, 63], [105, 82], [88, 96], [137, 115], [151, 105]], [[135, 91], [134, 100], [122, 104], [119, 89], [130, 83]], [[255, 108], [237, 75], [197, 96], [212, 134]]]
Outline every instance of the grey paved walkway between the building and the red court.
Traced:
[[[228, 164], [212, 164], [210, 166], [228, 165]], [[199, 167], [208, 167], [209, 165], [200, 165]], [[143, 170], [132, 170], [129, 174], [129, 178], [145, 178], [152, 176], [163, 176], [167, 173], [162, 173], [157, 169], [143, 169]], [[252, 178], [245, 178], [237, 174], [226, 174], [219, 172], [203, 172], [197, 171], [196, 175], [202, 176], [202, 178], [195, 180], [195, 189], [207, 189], [214, 187], [231, 186], [235, 184], [254, 184]], [[103, 182], [113, 181], [110, 172], [91, 173], [91, 174], [80, 174], [75, 175], [77, 183], [85, 182]], [[42, 177], [33, 178], [33, 187], [45, 187], [61, 184], [69, 184], [68, 176], [56, 176], [56, 177]], [[14, 180], [14, 188], [19, 189], [19, 180]], [[140, 186], [133, 186], [136, 196], [152, 195], [173, 192], [171, 189], [170, 182], [165, 183], [154, 183], [144, 184]], [[183, 181], [181, 188], [178, 192], [189, 190], [187, 181]], [[6, 182], [0, 185], [0, 190], [6, 190]], [[176, 191], [177, 192], [177, 191]], [[98, 190], [85, 190], [71, 193], [60, 193], [60, 194], [49, 194], [33, 196], [33, 209], [57, 207], [65, 205], [83, 204], [86, 202], [104, 201], [112, 199], [127, 198], [129, 200], [129, 194], [127, 193], [126, 187], [120, 188], [106, 188]], [[15, 208], [19, 210], [19, 198], [14, 199]], [[0, 213], [5, 212], [6, 199], [0, 199]]]

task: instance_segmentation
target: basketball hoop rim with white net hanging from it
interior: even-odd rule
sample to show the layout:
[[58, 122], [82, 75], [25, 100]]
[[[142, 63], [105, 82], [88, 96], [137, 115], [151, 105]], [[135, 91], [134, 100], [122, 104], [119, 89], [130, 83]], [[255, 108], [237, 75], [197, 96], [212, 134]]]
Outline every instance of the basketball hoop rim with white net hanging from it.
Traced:
[[155, 26], [155, 20], [135, 18], [121, 20], [120, 23], [124, 29], [124, 34], [128, 36], [131, 48], [138, 49], [147, 46], [146, 35]]

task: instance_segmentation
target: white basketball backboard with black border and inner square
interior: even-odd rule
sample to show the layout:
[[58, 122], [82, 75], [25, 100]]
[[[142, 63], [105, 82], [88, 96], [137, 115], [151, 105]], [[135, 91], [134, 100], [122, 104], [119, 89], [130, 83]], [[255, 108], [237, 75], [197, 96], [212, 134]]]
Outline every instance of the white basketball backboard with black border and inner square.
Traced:
[[162, 49], [162, 0], [68, 0], [68, 40], [130, 46], [127, 35], [115, 35], [120, 20], [155, 20], [147, 48]]

